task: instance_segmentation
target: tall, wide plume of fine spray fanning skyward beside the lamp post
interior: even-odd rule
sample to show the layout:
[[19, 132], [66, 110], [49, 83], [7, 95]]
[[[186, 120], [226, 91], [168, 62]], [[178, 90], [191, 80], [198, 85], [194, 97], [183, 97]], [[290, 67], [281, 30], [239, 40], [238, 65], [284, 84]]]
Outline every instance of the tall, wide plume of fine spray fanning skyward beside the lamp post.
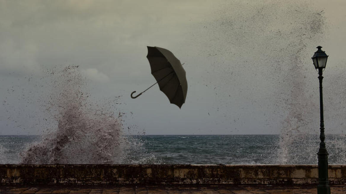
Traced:
[[194, 41], [211, 63], [205, 81], [224, 105], [217, 111], [227, 115], [218, 122], [237, 133], [281, 128], [277, 158], [268, 163], [316, 161], [318, 90], [311, 88], [318, 80], [310, 58], [328, 30], [324, 10], [304, 1], [227, 1], [208, 17], [194, 36], [205, 40]]

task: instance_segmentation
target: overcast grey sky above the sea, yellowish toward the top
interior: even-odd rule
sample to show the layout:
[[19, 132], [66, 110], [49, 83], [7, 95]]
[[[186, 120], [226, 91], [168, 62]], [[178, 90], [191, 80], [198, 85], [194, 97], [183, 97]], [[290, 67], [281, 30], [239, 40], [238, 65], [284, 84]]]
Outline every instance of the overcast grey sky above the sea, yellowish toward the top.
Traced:
[[[51, 92], [40, 78], [68, 65], [88, 79], [91, 100], [121, 96], [116, 111], [126, 113], [133, 133], [316, 132], [311, 56], [318, 45], [330, 56], [326, 133], [343, 133], [345, 9], [344, 0], [0, 0], [1, 134], [51, 127], [36, 123], [46, 114], [39, 99]], [[169, 49], [185, 63], [181, 109], [158, 86], [130, 98], [155, 82], [146, 46]]]

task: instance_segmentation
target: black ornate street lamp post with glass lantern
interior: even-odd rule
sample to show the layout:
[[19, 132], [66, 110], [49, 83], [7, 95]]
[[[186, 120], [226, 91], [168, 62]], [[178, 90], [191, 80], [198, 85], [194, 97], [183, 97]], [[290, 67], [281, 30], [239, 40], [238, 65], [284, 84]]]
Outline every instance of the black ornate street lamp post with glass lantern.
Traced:
[[326, 143], [324, 142], [326, 136], [324, 134], [324, 120], [323, 120], [323, 95], [322, 95], [322, 70], [326, 68], [328, 55], [325, 51], [321, 50], [321, 46], [316, 47], [318, 50], [312, 56], [313, 65], [318, 69], [318, 79], [320, 80], [320, 148], [318, 150], [318, 186], [317, 194], [330, 194], [330, 186], [328, 181], [328, 152]]

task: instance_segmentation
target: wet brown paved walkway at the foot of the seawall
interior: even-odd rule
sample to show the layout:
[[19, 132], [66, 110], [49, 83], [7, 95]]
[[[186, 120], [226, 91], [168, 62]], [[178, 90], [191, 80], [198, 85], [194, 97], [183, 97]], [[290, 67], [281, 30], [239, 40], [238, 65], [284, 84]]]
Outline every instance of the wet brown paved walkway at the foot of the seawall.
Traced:
[[[317, 194], [316, 186], [174, 185], [174, 186], [71, 186], [0, 185], [1, 194]], [[331, 193], [345, 194], [346, 185], [331, 186]]]

